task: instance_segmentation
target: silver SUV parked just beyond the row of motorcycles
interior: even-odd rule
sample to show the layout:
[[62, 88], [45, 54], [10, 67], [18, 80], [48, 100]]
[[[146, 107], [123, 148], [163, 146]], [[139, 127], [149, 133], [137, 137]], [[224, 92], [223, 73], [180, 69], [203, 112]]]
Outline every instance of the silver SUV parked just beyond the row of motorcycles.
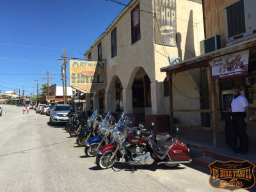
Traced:
[[67, 123], [68, 112], [72, 109], [70, 105], [56, 104], [50, 115], [50, 125], [57, 123]]

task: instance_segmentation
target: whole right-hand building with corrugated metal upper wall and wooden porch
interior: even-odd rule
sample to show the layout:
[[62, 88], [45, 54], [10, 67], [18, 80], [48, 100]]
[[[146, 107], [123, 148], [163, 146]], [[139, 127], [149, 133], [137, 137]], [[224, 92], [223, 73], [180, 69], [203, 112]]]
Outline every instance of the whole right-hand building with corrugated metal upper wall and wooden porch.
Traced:
[[[246, 127], [248, 135], [256, 137], [256, 1], [208, 0], [203, 1], [205, 40], [200, 42], [202, 54], [191, 60], [181, 61], [161, 68], [168, 76], [178, 76], [200, 69], [202, 110], [211, 116], [214, 145], [218, 132], [225, 132], [225, 116], [232, 101], [232, 86], [242, 88], [250, 104], [252, 122]], [[174, 78], [173, 78], [174, 81]], [[186, 84], [186, 81], [183, 81]], [[170, 98], [175, 102], [175, 95]], [[177, 109], [177, 108], [176, 108]], [[191, 109], [193, 109], [191, 107]], [[191, 110], [192, 111], [192, 110]], [[172, 112], [175, 112], [173, 106]], [[203, 114], [203, 113], [202, 113]], [[200, 127], [198, 127], [200, 128]]]

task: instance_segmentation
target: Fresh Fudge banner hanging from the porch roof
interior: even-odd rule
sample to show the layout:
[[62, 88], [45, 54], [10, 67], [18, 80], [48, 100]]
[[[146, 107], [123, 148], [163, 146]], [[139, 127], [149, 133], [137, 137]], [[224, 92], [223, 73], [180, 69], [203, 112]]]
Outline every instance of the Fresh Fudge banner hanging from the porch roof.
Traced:
[[244, 76], [248, 71], [249, 50], [228, 54], [210, 61], [212, 79]]

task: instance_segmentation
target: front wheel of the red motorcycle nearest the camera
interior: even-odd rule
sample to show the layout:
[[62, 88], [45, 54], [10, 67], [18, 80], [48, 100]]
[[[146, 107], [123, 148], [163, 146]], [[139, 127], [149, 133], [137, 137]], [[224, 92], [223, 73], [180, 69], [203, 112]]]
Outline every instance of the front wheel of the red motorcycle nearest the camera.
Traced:
[[104, 170], [111, 168], [117, 160], [117, 157], [115, 156], [112, 160], [110, 160], [110, 157], [112, 156], [112, 152], [106, 152], [104, 154], [98, 154], [96, 157], [96, 164], [97, 166]]

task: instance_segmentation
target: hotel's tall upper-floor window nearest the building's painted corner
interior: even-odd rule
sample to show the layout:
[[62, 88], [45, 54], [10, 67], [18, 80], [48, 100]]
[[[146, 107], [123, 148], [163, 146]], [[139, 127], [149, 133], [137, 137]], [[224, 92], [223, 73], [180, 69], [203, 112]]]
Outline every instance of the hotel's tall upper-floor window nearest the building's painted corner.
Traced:
[[140, 4], [131, 11], [132, 44], [140, 39]]

